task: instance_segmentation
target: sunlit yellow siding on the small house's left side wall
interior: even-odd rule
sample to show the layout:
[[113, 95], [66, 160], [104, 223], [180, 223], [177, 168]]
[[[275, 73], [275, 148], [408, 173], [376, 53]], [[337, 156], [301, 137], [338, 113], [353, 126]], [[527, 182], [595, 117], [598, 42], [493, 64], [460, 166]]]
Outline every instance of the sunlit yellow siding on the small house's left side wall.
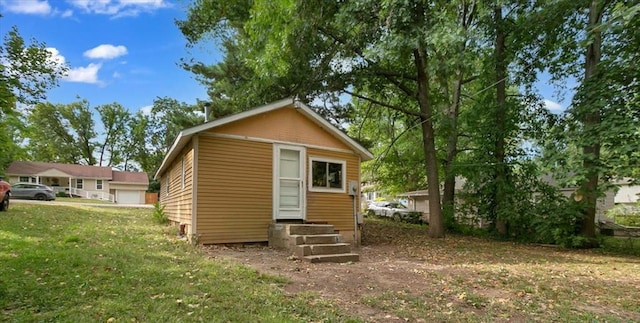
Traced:
[[[184, 189], [182, 188], [182, 157], [184, 156]], [[169, 220], [191, 225], [191, 197], [193, 192], [193, 149], [191, 144], [171, 162], [160, 182], [160, 203], [165, 205]], [[166, 195], [166, 178], [169, 177], [169, 195]]]

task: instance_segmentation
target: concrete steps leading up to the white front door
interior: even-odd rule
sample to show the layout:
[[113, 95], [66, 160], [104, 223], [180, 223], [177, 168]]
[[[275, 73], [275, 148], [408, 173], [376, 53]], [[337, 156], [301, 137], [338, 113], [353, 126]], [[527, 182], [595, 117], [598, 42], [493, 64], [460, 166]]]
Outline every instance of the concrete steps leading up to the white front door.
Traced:
[[351, 252], [351, 244], [342, 242], [342, 236], [329, 224], [273, 224], [269, 245], [286, 248], [297, 258], [312, 263], [360, 260], [360, 255]]

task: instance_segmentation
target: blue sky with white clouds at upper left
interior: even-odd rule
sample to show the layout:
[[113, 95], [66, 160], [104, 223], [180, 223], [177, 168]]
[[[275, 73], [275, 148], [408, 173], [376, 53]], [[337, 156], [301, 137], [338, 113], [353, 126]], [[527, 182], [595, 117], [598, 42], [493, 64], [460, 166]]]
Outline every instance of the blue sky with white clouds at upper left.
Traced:
[[178, 66], [180, 58], [213, 63], [222, 56], [213, 44], [186, 48], [174, 23], [185, 17], [185, 6], [167, 0], [0, 0], [0, 35], [15, 25], [69, 65], [49, 102], [80, 97], [92, 107], [118, 102], [134, 112], [159, 96], [195, 103], [207, 98], [206, 90]]

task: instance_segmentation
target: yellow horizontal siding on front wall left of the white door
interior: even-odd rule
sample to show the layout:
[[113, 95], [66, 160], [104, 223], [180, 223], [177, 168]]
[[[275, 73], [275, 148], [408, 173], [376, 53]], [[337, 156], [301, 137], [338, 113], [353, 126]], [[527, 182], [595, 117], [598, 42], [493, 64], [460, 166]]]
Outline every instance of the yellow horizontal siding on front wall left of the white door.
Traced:
[[267, 241], [272, 145], [210, 136], [201, 136], [198, 145], [199, 241]]

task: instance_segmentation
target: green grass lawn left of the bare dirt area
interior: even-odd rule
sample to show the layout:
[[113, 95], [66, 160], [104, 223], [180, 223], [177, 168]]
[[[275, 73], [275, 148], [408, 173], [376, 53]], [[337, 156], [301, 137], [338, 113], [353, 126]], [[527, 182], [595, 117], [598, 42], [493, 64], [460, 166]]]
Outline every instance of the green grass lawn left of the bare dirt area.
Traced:
[[0, 213], [0, 321], [348, 321], [282, 278], [204, 256], [152, 210], [13, 204]]

